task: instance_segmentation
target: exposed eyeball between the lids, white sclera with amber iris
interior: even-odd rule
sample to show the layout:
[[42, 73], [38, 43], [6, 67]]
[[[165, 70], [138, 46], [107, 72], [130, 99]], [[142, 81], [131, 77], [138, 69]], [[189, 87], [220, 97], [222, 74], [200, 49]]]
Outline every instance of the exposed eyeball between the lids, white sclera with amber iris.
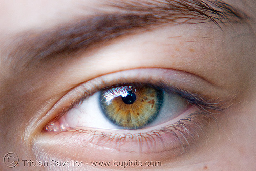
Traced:
[[[131, 84], [130, 84], [131, 85]], [[174, 119], [188, 108], [180, 95], [149, 84], [112, 86], [94, 93], [74, 106], [59, 121], [58, 129], [139, 129]], [[47, 130], [57, 129], [56, 124]]]

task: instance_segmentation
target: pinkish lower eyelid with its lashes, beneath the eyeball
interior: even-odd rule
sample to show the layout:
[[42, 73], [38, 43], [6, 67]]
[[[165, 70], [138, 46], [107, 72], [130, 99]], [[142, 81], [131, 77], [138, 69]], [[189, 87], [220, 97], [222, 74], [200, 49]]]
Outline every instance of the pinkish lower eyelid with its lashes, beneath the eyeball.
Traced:
[[[62, 145], [62, 148], [55, 149], [54, 153], [64, 156], [70, 153], [76, 154], [77, 160], [109, 160], [108, 156], [124, 157], [140, 156], [136, 159], [144, 159], [151, 154], [152, 160], [172, 159], [178, 155], [188, 152], [194, 143], [200, 143], [207, 138], [206, 127], [214, 114], [206, 112], [195, 112], [185, 119], [180, 119], [174, 124], [166, 125], [158, 130], [151, 130], [141, 133], [109, 133], [106, 130], [94, 129], [68, 129], [60, 133], [51, 133], [39, 137], [35, 142], [35, 149], [48, 151], [49, 145]], [[67, 148], [67, 151], [63, 150]], [[50, 153], [50, 152], [49, 152]], [[94, 156], [88, 154], [93, 153]], [[88, 157], [87, 157], [88, 156]], [[113, 160], [119, 158], [113, 157]], [[124, 157], [124, 160], [133, 158]]]

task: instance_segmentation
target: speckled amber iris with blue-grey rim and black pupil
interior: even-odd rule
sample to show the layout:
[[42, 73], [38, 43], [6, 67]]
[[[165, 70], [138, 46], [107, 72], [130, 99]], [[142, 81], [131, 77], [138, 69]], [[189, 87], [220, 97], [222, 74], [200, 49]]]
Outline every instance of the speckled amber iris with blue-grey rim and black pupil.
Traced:
[[150, 85], [110, 87], [100, 94], [100, 104], [106, 118], [128, 129], [138, 129], [151, 123], [162, 103], [163, 91]]

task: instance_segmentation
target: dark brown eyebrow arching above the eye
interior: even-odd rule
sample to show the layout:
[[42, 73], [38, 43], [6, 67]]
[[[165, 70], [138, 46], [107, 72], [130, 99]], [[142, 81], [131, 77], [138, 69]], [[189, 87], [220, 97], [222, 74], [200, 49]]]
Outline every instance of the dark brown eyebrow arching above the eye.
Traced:
[[122, 35], [166, 23], [241, 22], [245, 13], [218, 0], [116, 1], [115, 13], [77, 17], [43, 31], [28, 30], [15, 35], [4, 52], [15, 62], [29, 67], [32, 63], [59, 56], [78, 55]]

